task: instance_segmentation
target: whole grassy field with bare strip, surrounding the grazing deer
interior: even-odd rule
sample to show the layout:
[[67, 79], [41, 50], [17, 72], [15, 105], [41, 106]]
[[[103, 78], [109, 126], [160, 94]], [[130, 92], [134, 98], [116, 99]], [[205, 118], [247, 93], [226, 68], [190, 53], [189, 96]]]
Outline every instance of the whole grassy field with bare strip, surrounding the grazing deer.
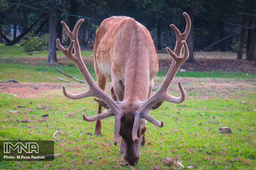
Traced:
[[[82, 114], [95, 115], [97, 103], [92, 98], [71, 100], [62, 94], [62, 84], [71, 92], [84, 91], [87, 84], [61, 82], [58, 77], [65, 77], [55, 70], [55, 66], [45, 64], [46, 61], [16, 61], [14, 59], [20, 57], [6, 55], [3, 52], [6, 48], [13, 48], [14, 53], [18, 53], [21, 47], [0, 46], [0, 80], [15, 79], [20, 83], [0, 83], [0, 140], [53, 140], [54, 152], [61, 157], [51, 162], [0, 162], [0, 169], [183, 169], [164, 162], [166, 157], [177, 156], [182, 165], [194, 166], [193, 169], [256, 167], [255, 74], [179, 72], [169, 91], [178, 96], [178, 81], [181, 81], [187, 99], [181, 104], [164, 102], [150, 112], [165, 125], [157, 128], [147, 124], [147, 145], [141, 147], [140, 162], [132, 167], [122, 165], [119, 143], [113, 144], [114, 117], [102, 121], [103, 136], [96, 137], [94, 123], [83, 121]], [[44, 57], [43, 53], [33, 57]], [[85, 54], [85, 60], [91, 58]], [[62, 58], [60, 61], [65, 63], [58, 65], [62, 71], [82, 79], [74, 64]], [[95, 74], [92, 64], [87, 66], [91, 74]], [[165, 73], [158, 73], [154, 90], [161, 85]], [[93, 77], [95, 79], [95, 75]], [[110, 82], [106, 91], [110, 94]], [[20, 113], [9, 113], [7, 109]], [[45, 114], [49, 116], [43, 118], [41, 115]], [[38, 120], [46, 121], [36, 122]], [[223, 126], [231, 128], [232, 133], [219, 133]], [[63, 142], [53, 139], [57, 129], [61, 130], [57, 138]]]

